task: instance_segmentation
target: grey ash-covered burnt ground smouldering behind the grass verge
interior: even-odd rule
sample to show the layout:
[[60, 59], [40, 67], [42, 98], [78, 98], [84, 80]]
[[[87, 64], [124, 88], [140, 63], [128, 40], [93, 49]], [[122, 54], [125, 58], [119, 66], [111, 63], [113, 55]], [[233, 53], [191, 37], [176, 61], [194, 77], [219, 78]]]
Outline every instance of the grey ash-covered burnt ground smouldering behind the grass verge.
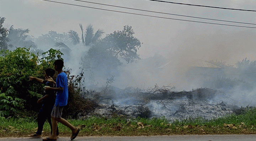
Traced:
[[[216, 101], [215, 98], [220, 96], [223, 100]], [[190, 92], [174, 92], [166, 88], [147, 92], [135, 90], [133, 93], [120, 90], [118, 96], [99, 93], [97, 99], [100, 99], [99, 106], [87, 117], [165, 117], [170, 122], [201, 118], [209, 121], [233, 113], [235, 107], [226, 103], [230, 99], [223, 93], [208, 88]]]

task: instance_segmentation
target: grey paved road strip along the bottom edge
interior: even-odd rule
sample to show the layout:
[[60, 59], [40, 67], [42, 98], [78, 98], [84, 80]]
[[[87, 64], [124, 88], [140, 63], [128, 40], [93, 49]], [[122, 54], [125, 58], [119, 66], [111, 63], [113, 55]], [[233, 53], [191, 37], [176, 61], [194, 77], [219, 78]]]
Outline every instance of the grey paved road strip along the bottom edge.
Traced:
[[[60, 137], [57, 141], [69, 141]], [[0, 141], [42, 141], [29, 137], [4, 137]], [[256, 135], [85, 136], [74, 141], [256, 141]]]

